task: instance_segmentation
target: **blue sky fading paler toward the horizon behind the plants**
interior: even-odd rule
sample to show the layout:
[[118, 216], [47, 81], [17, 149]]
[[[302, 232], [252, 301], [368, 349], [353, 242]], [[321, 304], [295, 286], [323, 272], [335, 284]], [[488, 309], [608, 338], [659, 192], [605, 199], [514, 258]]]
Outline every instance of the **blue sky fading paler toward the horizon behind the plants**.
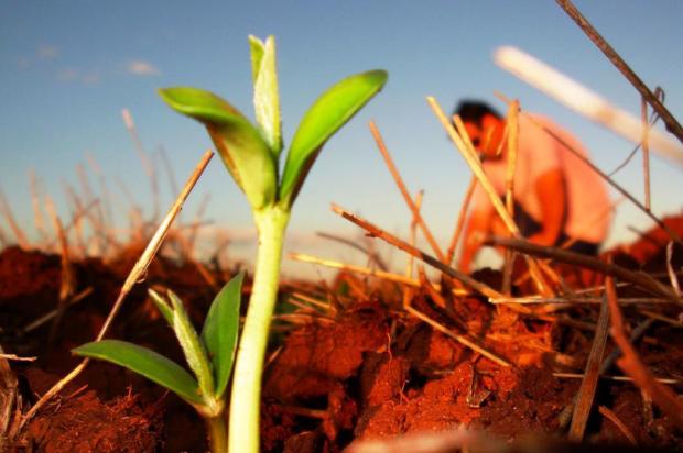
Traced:
[[[647, 84], [664, 88], [668, 107], [683, 118], [683, 2], [577, 0], [576, 5]], [[210, 142], [200, 126], [169, 110], [155, 89], [206, 88], [252, 117], [249, 34], [275, 35], [285, 143], [306, 108], [336, 80], [371, 68], [390, 74], [384, 90], [321, 154], [295, 206], [289, 250], [325, 256], [321, 244], [307, 240], [315, 231], [358, 234], [329, 211], [332, 201], [405, 234], [409, 210], [375, 146], [370, 120], [409, 188], [425, 190], [425, 218], [447, 242], [469, 174], [425, 96], [435, 96], [447, 111], [462, 97], [496, 103], [495, 90], [518, 98], [522, 108], [576, 133], [605, 169], [632, 147], [492, 63], [498, 46], [518, 46], [639, 114], [636, 90], [552, 1], [9, 0], [0, 5], [0, 187], [22, 225], [33, 228], [29, 168], [66, 212], [62, 181], [77, 184], [75, 167], [87, 167], [86, 155], [108, 178], [121, 226], [127, 205], [115, 178], [149, 205], [149, 183], [122, 108], [130, 109], [147, 151], [163, 146], [184, 180]], [[172, 198], [159, 168], [165, 207]], [[652, 172], [653, 210], [680, 211], [680, 169], [655, 158]], [[640, 175], [635, 162], [617, 180], [640, 196]], [[193, 194], [188, 212], [204, 194], [210, 195], [208, 219], [236, 232], [250, 230], [247, 202], [218, 159]], [[622, 203], [610, 242], [630, 237], [629, 225], [643, 229], [649, 222]]]

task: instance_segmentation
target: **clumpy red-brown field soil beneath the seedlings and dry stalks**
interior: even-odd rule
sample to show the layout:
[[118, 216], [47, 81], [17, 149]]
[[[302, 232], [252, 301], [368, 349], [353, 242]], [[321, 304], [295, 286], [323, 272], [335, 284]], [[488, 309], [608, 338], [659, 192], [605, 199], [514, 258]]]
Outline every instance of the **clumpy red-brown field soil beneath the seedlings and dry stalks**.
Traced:
[[[666, 222], [683, 235], [682, 218]], [[615, 263], [669, 285], [666, 242], [662, 231], [652, 230], [611, 254]], [[32, 325], [35, 320], [58, 307], [61, 257], [19, 247], [0, 253], [0, 345], [4, 353], [36, 357], [10, 362], [24, 412], [78, 364], [71, 350], [95, 339], [139, 252], [135, 247], [122, 251], [107, 263], [96, 258], [72, 263], [74, 294], [89, 292], [66, 307], [61, 317], [37, 327]], [[682, 252], [674, 247], [674, 269], [683, 266]], [[530, 294], [523, 266], [519, 267], [513, 291]], [[603, 284], [601, 275], [567, 265], [555, 267], [574, 290]], [[209, 266], [208, 270], [217, 281], [227, 281], [237, 269]], [[502, 280], [490, 269], [476, 273], [475, 278], [494, 287]], [[196, 266], [156, 258], [107, 335], [182, 363], [177, 342], [147, 297], [150, 287], [178, 294], [197, 325], [216, 288]], [[566, 438], [571, 405], [582, 379], [555, 374], [583, 374], [599, 305], [519, 310], [475, 296], [452, 297], [448, 281], [442, 288], [414, 288], [405, 294], [398, 285], [347, 273], [339, 273], [329, 285], [283, 284], [282, 310], [273, 324], [263, 378], [263, 451], [339, 452], [360, 440], [460, 427], [502, 442], [520, 441], [517, 451], [531, 451], [524, 450], [524, 439]], [[247, 283], [243, 305], [249, 290]], [[621, 297], [650, 296], [628, 286], [618, 291]], [[295, 309], [288, 303], [294, 298], [301, 306], [301, 297], [292, 296], [295, 292], [326, 307]], [[479, 344], [484, 352], [415, 318], [404, 309], [403, 300], [460, 340], [464, 335]], [[631, 328], [647, 319], [647, 312], [677, 322], [653, 321], [635, 346], [655, 376], [679, 382], [672, 387], [681, 394], [680, 308], [665, 303], [624, 307]], [[612, 350], [608, 341], [607, 354]], [[614, 365], [606, 374], [622, 372]], [[600, 379], [584, 435], [586, 449], [680, 451], [682, 441], [683, 433], [633, 383]], [[9, 451], [26, 452], [206, 450], [204, 426], [192, 408], [135, 374], [97, 361], [41, 409], [9, 445]]]

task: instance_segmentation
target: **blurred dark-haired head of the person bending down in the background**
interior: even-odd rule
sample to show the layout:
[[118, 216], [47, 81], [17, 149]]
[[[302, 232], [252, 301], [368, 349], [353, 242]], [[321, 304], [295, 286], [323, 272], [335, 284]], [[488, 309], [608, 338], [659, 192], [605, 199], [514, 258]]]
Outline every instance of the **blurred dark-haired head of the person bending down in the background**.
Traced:
[[488, 158], [496, 157], [506, 126], [500, 113], [486, 102], [466, 99], [458, 102], [453, 114], [465, 123], [475, 148]]

